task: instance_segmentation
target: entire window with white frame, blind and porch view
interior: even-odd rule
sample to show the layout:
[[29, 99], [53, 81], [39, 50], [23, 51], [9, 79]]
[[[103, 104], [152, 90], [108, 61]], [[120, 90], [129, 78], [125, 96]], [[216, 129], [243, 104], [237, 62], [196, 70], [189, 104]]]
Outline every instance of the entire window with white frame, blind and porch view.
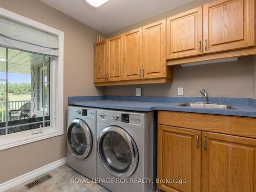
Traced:
[[0, 151], [63, 134], [63, 32], [0, 8], [0, 36]]

